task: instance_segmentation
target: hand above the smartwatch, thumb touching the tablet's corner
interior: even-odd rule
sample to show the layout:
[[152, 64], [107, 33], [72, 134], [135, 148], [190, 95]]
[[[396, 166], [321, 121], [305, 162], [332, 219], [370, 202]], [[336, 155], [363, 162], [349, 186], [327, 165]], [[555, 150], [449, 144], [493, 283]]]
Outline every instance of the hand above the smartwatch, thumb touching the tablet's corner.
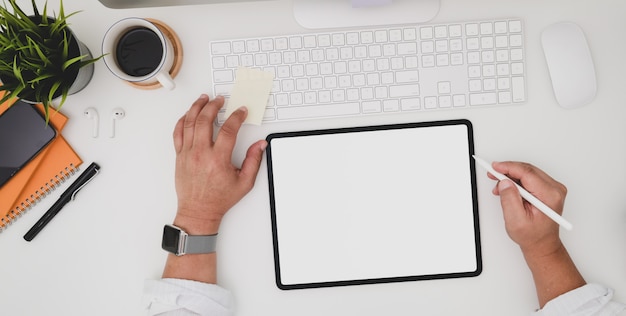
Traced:
[[237, 133], [247, 116], [240, 108], [224, 123], [213, 140], [213, 122], [224, 98], [202, 95], [174, 129], [176, 149], [175, 225], [190, 234], [215, 234], [222, 217], [254, 186], [263, 151], [260, 140], [250, 146], [240, 168], [232, 164]]

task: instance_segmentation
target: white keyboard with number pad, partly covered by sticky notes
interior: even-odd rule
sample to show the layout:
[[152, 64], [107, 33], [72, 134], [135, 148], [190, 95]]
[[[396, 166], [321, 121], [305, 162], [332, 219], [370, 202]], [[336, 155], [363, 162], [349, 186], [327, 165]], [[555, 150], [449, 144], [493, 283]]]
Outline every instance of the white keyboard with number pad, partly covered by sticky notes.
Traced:
[[[211, 42], [213, 92], [237, 67], [274, 73], [264, 122], [508, 105], [526, 101], [519, 19], [396, 26]], [[218, 116], [223, 123], [224, 115]]]

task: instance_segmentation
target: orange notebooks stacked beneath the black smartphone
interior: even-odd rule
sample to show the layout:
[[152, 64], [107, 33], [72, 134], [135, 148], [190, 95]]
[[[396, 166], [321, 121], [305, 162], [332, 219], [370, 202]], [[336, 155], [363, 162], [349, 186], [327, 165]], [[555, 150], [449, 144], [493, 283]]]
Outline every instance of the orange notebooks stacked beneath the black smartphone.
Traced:
[[[43, 111], [42, 105], [37, 105]], [[0, 105], [0, 114], [8, 109]], [[76, 172], [80, 157], [60, 135], [67, 117], [50, 115], [58, 136], [0, 189], [0, 231]]]

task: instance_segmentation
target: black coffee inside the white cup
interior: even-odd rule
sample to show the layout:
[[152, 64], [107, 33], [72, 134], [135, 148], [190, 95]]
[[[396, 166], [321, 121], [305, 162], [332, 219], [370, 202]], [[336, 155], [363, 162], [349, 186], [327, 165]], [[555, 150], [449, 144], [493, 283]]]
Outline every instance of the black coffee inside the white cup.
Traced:
[[163, 59], [163, 43], [147, 27], [138, 27], [124, 33], [115, 48], [118, 66], [127, 75], [141, 77], [159, 68]]

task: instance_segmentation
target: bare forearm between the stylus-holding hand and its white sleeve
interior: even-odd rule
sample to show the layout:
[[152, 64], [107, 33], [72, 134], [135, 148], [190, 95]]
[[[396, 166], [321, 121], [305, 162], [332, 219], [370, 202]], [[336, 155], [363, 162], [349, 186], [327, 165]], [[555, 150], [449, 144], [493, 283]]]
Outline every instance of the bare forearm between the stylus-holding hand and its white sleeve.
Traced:
[[559, 295], [586, 284], [563, 244], [547, 253], [524, 249], [522, 252], [532, 272], [541, 308]]

